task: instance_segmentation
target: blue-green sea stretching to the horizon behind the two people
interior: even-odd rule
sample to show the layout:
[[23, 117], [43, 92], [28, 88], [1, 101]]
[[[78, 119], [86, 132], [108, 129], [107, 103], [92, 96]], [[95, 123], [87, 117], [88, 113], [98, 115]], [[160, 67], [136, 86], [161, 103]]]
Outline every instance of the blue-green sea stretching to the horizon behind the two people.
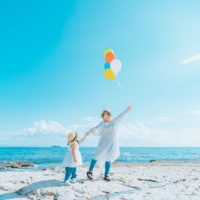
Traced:
[[[41, 170], [51, 166], [62, 167], [67, 152], [65, 147], [0, 147], [2, 161], [27, 161], [35, 164], [31, 170]], [[89, 164], [95, 147], [80, 148], [83, 164]], [[200, 147], [121, 147], [116, 162], [148, 163], [158, 161], [199, 161]], [[9, 169], [12, 170], [12, 169]]]

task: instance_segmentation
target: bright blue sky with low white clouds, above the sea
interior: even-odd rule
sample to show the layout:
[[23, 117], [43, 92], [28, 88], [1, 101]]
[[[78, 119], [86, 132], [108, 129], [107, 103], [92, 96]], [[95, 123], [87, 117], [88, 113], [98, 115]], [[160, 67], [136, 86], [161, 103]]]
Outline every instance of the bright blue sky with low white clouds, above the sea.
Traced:
[[[0, 2], [0, 146], [66, 146], [133, 109], [120, 146], [200, 144], [200, 1]], [[122, 63], [105, 79], [103, 52]], [[89, 136], [83, 146], [97, 146]]]

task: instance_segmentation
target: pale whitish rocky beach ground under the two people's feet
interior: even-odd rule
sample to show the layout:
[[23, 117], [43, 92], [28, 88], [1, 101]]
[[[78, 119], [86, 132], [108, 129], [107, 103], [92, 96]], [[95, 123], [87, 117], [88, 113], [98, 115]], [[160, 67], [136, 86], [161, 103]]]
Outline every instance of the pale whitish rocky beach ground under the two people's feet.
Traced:
[[77, 182], [63, 183], [64, 169], [0, 172], [0, 200], [200, 200], [200, 162], [116, 163], [111, 182], [95, 168], [94, 180], [86, 178], [88, 166], [77, 169]]

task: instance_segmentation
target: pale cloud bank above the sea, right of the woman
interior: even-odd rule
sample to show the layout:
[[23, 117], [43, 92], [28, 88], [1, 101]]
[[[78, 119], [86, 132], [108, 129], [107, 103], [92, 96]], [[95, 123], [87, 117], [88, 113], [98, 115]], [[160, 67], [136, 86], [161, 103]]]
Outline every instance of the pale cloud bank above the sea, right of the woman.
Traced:
[[119, 137], [125, 146], [126, 144], [130, 146], [199, 146], [200, 130], [165, 131], [144, 122], [138, 122], [121, 125]]

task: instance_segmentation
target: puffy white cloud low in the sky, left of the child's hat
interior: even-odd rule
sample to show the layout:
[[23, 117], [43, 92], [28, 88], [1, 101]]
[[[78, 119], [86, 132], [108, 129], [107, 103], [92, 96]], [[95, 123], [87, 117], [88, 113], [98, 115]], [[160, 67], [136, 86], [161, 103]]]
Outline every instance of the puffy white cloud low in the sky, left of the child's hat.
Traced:
[[60, 123], [50, 121], [45, 122], [45, 120], [40, 120], [33, 122], [33, 126], [30, 128], [23, 128], [23, 133], [68, 133], [70, 129], [66, 129]]

